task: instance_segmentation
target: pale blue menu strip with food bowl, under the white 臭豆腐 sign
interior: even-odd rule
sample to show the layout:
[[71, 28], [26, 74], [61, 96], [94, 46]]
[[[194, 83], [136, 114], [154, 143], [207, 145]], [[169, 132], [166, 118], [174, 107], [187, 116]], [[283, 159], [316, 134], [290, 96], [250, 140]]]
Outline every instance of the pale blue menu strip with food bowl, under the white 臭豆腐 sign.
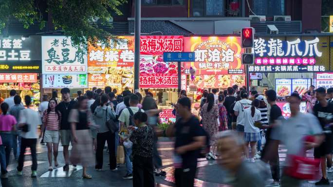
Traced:
[[44, 88], [87, 88], [88, 85], [87, 74], [44, 74], [43, 87]]

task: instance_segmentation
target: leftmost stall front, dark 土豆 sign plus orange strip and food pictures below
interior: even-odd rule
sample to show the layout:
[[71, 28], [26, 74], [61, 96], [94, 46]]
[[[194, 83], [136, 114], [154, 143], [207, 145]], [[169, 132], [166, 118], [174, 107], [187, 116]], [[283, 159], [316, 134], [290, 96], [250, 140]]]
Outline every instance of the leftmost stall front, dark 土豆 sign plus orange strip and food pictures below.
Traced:
[[40, 63], [40, 36], [0, 37], [1, 98], [10, 97], [10, 90], [15, 89], [21, 98], [31, 96], [35, 107], [40, 100]]

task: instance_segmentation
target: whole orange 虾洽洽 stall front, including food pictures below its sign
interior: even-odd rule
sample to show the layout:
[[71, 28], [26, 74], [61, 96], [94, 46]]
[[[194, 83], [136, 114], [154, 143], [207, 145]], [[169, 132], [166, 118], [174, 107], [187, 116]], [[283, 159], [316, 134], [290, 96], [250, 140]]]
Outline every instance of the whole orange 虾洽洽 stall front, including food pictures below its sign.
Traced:
[[[190, 74], [190, 68], [195, 69], [194, 80], [186, 84], [187, 91], [193, 90], [194, 100], [203, 89], [218, 88], [222, 91], [232, 85], [245, 85], [245, 71], [240, 59], [243, 52], [240, 37], [185, 37], [185, 51], [195, 52], [195, 62], [184, 64], [185, 74]], [[200, 91], [194, 91], [195, 86]]]

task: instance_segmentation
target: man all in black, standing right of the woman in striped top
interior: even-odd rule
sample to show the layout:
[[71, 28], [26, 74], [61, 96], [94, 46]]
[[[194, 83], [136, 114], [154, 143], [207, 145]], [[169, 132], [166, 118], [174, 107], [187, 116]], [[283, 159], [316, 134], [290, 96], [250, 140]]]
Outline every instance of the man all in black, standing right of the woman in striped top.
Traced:
[[70, 89], [65, 87], [61, 89], [62, 102], [56, 106], [56, 110], [61, 113], [60, 121], [60, 141], [63, 146], [63, 155], [65, 159], [64, 171], [69, 170], [69, 151], [68, 147], [71, 142], [71, 123], [69, 122], [69, 113], [76, 105], [76, 102], [70, 98]]

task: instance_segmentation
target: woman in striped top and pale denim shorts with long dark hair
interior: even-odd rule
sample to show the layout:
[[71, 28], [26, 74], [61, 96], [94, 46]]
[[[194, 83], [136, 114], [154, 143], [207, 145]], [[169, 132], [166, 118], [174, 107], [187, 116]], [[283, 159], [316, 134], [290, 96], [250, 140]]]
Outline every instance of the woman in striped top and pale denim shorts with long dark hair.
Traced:
[[[48, 102], [48, 108], [43, 113], [43, 125], [41, 128], [41, 137], [47, 146], [47, 158], [49, 160], [49, 170], [52, 171], [52, 148], [55, 159], [55, 167], [58, 166], [58, 145], [59, 145], [59, 124], [61, 121], [61, 114], [56, 109], [57, 102], [55, 99], [51, 99]], [[45, 129], [45, 131], [44, 131]]]

